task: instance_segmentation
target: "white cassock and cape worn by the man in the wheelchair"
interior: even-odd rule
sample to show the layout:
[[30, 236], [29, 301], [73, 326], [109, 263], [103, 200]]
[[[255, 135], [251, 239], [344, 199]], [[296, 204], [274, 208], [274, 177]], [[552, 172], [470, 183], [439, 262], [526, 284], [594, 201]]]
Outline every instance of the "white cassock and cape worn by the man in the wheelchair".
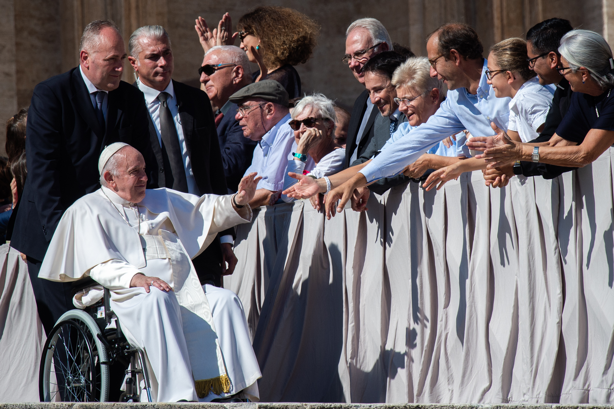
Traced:
[[[137, 206], [103, 187], [66, 210], [39, 277], [89, 275], [111, 290], [126, 338], [146, 353], [155, 402], [208, 402], [239, 391], [257, 401], [261, 375], [243, 306], [233, 292], [201, 287], [190, 261], [218, 232], [251, 217], [249, 206], [233, 208], [230, 195], [154, 189]], [[174, 291], [130, 288], [136, 273], [163, 279]], [[91, 305], [97, 293], [78, 294], [75, 304]]]

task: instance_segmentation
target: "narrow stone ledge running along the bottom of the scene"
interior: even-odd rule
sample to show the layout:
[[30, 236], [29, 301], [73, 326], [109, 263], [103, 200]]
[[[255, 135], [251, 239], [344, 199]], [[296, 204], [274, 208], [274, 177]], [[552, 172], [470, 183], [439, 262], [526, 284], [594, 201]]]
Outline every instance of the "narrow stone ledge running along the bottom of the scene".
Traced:
[[497, 403], [0, 403], [0, 409], [614, 409], [614, 405]]

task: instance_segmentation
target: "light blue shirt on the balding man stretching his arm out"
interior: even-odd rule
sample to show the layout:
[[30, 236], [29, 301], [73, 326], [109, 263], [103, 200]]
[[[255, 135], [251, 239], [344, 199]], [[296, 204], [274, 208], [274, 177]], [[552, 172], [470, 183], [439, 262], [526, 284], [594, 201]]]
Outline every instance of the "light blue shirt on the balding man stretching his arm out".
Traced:
[[[486, 83], [486, 64], [484, 59], [476, 95], [468, 93], [467, 88], [448, 91], [446, 100], [426, 123], [397, 138], [392, 146], [382, 150], [360, 170], [367, 182], [396, 176], [440, 141], [465, 129], [473, 136], [491, 136], [494, 134], [491, 122], [494, 122], [497, 127], [507, 130], [511, 99], [495, 97], [494, 90]], [[464, 146], [464, 136], [457, 139], [457, 147]]]

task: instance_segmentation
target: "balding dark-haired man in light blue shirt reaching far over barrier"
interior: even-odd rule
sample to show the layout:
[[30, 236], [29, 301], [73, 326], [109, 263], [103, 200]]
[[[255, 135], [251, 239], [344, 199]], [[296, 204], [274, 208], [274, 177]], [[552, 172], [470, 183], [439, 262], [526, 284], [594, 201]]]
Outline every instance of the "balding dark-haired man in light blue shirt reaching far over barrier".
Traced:
[[[429, 121], [411, 131], [411, 138], [397, 139], [356, 176], [331, 193], [341, 197], [343, 209], [354, 190], [383, 177], [396, 176], [424, 152], [448, 136], [468, 130], [474, 136], [493, 134], [491, 123], [507, 129], [510, 98], [496, 98], [486, 78], [487, 61], [475, 30], [464, 23], [448, 23], [427, 39], [430, 74], [448, 85], [448, 96]], [[457, 141], [463, 144], [464, 136]], [[334, 198], [330, 196], [330, 198]], [[333, 202], [330, 202], [333, 203]]]

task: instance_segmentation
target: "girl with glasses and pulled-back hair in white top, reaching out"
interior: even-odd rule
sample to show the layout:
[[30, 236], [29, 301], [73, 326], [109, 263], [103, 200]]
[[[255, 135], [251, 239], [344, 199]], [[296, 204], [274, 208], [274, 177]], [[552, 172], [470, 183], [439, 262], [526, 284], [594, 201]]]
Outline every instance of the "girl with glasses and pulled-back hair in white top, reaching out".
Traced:
[[[511, 97], [507, 130], [510, 139], [529, 142], [537, 138], [546, 122], [554, 88], [540, 85], [535, 72], [529, 69], [527, 42], [521, 38], [509, 38], [493, 45], [488, 55], [486, 78], [497, 98]], [[462, 160], [433, 172], [424, 185], [428, 185], [427, 190], [430, 190], [439, 183], [437, 189], [440, 189], [461, 173], [486, 169], [486, 165], [484, 159]]]

